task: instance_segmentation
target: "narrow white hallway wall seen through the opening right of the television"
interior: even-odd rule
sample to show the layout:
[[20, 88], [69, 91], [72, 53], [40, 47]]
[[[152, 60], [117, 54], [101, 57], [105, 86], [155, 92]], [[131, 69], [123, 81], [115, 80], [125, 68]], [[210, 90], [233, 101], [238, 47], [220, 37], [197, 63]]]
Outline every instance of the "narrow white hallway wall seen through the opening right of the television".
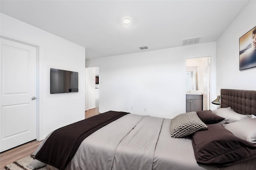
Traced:
[[88, 109], [95, 108], [95, 68], [87, 68], [88, 70]]

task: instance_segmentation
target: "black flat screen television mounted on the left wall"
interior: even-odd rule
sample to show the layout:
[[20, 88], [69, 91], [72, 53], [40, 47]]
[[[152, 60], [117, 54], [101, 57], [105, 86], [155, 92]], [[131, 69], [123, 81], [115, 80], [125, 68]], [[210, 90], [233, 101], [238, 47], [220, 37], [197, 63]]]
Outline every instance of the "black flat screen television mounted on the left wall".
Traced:
[[78, 72], [51, 68], [50, 93], [78, 92]]

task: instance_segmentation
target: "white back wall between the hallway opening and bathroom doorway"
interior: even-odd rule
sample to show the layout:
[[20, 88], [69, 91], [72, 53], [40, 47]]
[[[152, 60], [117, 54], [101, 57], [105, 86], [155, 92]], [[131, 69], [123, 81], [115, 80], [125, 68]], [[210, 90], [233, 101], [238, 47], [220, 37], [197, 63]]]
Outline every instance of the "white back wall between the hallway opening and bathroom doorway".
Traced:
[[[100, 113], [172, 118], [184, 113], [185, 58], [215, 56], [215, 42], [86, 60], [100, 68]], [[146, 108], [146, 111], [144, 111]]]

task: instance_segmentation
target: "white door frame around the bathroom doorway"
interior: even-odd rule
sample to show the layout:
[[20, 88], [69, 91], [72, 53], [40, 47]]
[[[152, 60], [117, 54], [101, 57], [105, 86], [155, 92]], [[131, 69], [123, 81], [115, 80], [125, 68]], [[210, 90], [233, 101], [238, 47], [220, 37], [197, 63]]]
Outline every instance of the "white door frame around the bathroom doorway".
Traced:
[[[186, 112], [186, 59], [194, 59], [194, 58], [204, 58], [204, 57], [210, 57], [210, 95], [209, 100], [211, 101], [216, 99], [216, 58], [214, 54], [205, 54], [205, 55], [194, 55], [194, 56], [186, 56], [184, 57], [184, 90], [183, 90], [183, 96], [184, 96], [184, 111]], [[209, 109], [214, 110], [216, 109], [216, 106], [213, 106], [210, 104]], [[184, 112], [184, 113], [185, 113]]]

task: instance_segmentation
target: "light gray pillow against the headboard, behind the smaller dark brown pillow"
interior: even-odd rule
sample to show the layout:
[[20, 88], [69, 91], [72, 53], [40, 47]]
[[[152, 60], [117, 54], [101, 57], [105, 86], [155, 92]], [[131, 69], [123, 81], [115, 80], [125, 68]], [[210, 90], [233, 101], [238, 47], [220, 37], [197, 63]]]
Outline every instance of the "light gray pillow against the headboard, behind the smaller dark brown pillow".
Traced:
[[216, 110], [213, 110], [212, 113], [220, 117], [224, 117], [225, 118], [224, 121], [226, 123], [232, 123], [235, 121], [249, 119], [252, 117], [251, 115], [242, 115], [242, 114], [236, 113], [230, 107], [216, 109]]

